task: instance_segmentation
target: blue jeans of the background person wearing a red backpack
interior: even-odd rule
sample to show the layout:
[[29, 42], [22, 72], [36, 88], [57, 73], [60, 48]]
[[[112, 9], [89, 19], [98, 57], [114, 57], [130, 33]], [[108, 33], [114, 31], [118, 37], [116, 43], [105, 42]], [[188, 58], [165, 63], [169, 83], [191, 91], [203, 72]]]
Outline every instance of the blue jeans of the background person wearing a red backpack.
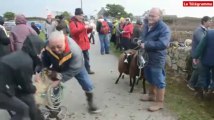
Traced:
[[107, 35], [99, 34], [99, 39], [100, 39], [100, 46], [101, 46], [101, 49], [100, 49], [101, 54], [109, 53], [110, 43], [109, 43], [108, 34]]

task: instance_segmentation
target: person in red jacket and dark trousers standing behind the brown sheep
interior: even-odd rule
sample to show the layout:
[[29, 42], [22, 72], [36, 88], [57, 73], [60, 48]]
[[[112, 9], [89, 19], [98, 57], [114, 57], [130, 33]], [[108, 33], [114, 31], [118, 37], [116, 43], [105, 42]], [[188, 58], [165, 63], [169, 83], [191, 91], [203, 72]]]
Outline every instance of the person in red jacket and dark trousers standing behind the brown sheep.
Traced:
[[133, 24], [131, 23], [130, 18], [126, 18], [125, 27], [123, 28], [122, 34], [122, 40], [121, 45], [124, 48], [124, 50], [128, 50], [131, 47], [131, 37], [133, 34]]

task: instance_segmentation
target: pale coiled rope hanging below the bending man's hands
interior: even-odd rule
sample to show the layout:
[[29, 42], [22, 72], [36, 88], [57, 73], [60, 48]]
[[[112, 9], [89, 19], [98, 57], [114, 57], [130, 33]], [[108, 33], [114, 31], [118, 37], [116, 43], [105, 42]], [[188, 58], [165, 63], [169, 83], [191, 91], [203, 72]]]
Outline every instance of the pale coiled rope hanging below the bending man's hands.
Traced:
[[45, 85], [46, 90], [41, 97], [44, 97], [45, 103], [41, 104], [40, 110], [42, 116], [46, 119], [50, 119], [50, 117], [56, 116], [56, 119], [65, 120], [67, 118], [67, 108], [62, 106], [62, 98], [63, 98], [63, 85], [60, 83], [57, 87], [51, 86], [51, 80], [48, 78], [49, 70], [43, 69], [40, 73], [40, 80]]

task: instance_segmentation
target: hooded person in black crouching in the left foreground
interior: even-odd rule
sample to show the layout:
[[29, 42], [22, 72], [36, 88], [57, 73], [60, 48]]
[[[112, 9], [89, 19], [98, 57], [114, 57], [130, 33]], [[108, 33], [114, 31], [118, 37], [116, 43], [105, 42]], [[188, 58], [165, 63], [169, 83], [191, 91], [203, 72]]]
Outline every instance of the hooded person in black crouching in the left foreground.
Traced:
[[12, 120], [42, 120], [33, 97], [32, 75], [41, 63], [38, 55], [43, 47], [38, 36], [29, 35], [22, 50], [0, 59], [0, 109], [14, 111]]

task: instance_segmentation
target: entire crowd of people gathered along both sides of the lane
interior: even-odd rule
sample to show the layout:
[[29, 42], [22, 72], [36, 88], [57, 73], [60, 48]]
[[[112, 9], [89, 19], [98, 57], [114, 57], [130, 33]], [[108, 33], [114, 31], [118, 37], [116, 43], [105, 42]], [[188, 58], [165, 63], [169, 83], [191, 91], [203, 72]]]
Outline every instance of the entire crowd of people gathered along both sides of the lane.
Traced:
[[[81, 8], [76, 8], [70, 21], [62, 15], [48, 15], [45, 22], [46, 41], [42, 41], [40, 31], [32, 23], [28, 26], [24, 15], [17, 15], [16, 26], [8, 35], [4, 18], [0, 16], [0, 108], [14, 111], [12, 120], [42, 120], [33, 95], [36, 88], [31, 80], [34, 73], [43, 68], [50, 69], [52, 86], [66, 82], [75, 77], [86, 95], [88, 110], [99, 113], [101, 110], [94, 103], [93, 83], [89, 74], [95, 74], [90, 66], [90, 43], [95, 44], [95, 33], [98, 33], [100, 54], [110, 53], [110, 42], [121, 51], [140, 46], [148, 55], [144, 67], [144, 76], [149, 83], [149, 92], [143, 95], [142, 101], [154, 101], [149, 111], [164, 108], [166, 87], [165, 63], [171, 31], [162, 20], [162, 11], [152, 8], [144, 21], [135, 24], [130, 18], [121, 17], [113, 22], [99, 16], [86, 23]], [[211, 18], [205, 16], [201, 26], [193, 35], [192, 59], [193, 74], [188, 86], [199, 93], [212, 89], [214, 76], [213, 30], [209, 30]], [[140, 40], [140, 45], [135, 40]], [[200, 59], [200, 60], [199, 60]], [[200, 61], [200, 62], [199, 62]], [[18, 63], [18, 64], [17, 64]], [[58, 78], [60, 74], [62, 78]]]

